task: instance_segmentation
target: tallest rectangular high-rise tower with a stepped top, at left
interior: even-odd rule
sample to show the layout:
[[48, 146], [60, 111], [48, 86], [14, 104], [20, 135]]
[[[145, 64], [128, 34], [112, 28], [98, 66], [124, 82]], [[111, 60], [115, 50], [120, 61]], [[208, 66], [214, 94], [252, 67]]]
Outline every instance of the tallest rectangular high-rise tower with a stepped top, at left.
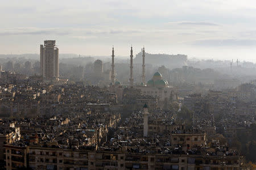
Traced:
[[46, 40], [40, 45], [40, 73], [43, 78], [59, 77], [59, 49], [55, 40]]

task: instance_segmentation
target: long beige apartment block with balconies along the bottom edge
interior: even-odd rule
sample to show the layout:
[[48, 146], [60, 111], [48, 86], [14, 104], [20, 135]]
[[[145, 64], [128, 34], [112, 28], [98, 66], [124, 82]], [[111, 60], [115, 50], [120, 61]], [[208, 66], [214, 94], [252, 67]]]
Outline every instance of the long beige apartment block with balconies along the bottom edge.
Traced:
[[[143, 154], [126, 151], [69, 150], [57, 147], [5, 146], [6, 169], [24, 165], [32, 169], [175, 169], [175, 170], [238, 170], [241, 157]], [[28, 156], [27, 156], [28, 155]], [[27, 159], [28, 158], [28, 159]]]

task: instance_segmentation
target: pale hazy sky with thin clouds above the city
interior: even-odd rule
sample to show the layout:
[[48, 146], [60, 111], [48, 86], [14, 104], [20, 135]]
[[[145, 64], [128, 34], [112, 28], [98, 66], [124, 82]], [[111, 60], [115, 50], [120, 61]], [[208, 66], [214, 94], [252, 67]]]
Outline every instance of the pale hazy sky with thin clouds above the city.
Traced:
[[60, 53], [150, 53], [256, 62], [256, 1], [1, 0], [0, 54], [39, 53], [56, 40]]

